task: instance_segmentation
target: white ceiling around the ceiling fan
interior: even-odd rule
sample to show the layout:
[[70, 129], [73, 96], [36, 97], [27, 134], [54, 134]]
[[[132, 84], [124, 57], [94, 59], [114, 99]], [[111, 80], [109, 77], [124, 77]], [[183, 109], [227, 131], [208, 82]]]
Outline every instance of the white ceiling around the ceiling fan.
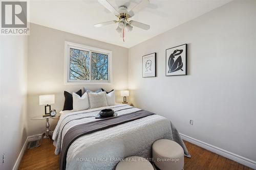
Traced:
[[[140, 2], [140, 0], [109, 1], [115, 5], [116, 9], [123, 4], [131, 9]], [[116, 32], [117, 24], [94, 28], [95, 23], [116, 19], [116, 16], [104, 9], [97, 0], [32, 0], [30, 1], [30, 21], [38, 25], [130, 48], [230, 1], [151, 0], [150, 5], [131, 18], [150, 25], [150, 30], [145, 31], [134, 27], [132, 32], [126, 32], [125, 42]]]

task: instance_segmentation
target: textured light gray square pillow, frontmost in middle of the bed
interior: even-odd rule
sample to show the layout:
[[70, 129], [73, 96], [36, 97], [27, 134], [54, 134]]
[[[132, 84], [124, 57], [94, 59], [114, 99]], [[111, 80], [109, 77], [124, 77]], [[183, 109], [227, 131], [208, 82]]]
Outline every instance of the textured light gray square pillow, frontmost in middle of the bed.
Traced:
[[108, 103], [106, 102], [106, 92], [88, 92], [89, 95], [89, 103], [90, 103], [90, 109], [98, 108], [98, 107], [104, 107], [108, 106]]

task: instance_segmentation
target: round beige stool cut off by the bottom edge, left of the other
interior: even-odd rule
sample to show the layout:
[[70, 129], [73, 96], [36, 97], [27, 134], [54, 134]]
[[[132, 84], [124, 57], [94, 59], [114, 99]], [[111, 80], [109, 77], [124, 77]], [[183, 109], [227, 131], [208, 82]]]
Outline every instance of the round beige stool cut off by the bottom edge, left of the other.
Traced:
[[116, 170], [154, 170], [154, 167], [150, 163], [150, 161], [146, 160], [140, 156], [130, 156], [124, 158], [123, 161], [120, 161], [117, 166]]

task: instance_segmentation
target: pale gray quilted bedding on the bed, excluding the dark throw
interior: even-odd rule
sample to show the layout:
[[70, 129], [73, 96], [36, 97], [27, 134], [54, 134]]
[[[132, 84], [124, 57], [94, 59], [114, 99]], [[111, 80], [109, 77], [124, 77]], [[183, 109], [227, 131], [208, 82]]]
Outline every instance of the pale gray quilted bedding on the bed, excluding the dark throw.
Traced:
[[[65, 152], [62, 147], [67, 140], [67, 133], [79, 125], [95, 123], [95, 116], [100, 110], [107, 108], [113, 109], [120, 117], [141, 111], [125, 104], [83, 111], [66, 111], [61, 114], [53, 133], [55, 154], [61, 155]], [[190, 157], [170, 120], [151, 114], [77, 137], [70, 142], [68, 148], [65, 147], [66, 155], [63, 158], [60, 156], [60, 169], [115, 169], [116, 164], [128, 156], [136, 155], [150, 159], [153, 142], [162, 138], [178, 142], [184, 149], [184, 155]]]

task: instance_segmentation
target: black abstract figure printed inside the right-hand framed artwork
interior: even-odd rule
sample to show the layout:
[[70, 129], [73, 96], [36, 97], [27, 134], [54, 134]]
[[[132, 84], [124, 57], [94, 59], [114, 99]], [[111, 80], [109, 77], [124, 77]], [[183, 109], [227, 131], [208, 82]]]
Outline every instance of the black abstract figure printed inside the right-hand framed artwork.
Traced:
[[[183, 50], [175, 50], [172, 54], [170, 54], [169, 59], [168, 59], [168, 73], [170, 72], [175, 72], [178, 70], [183, 71], [182, 67], [183, 67], [183, 62], [181, 59], [181, 53], [183, 52]], [[175, 57], [179, 56], [176, 60]]]

